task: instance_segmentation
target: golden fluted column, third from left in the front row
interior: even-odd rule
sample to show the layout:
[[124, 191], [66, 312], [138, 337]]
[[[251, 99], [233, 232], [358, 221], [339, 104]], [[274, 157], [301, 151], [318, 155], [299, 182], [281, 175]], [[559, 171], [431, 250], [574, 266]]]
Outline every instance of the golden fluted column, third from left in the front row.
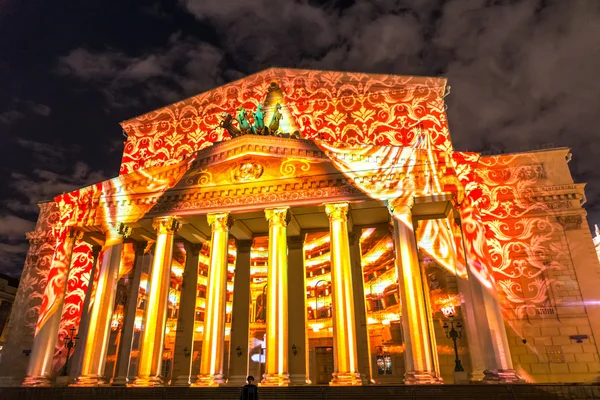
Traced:
[[156, 229], [156, 247], [144, 310], [144, 331], [140, 340], [138, 375], [133, 381], [133, 386], [162, 386], [163, 384], [160, 374], [173, 260], [173, 239], [180, 228], [180, 223], [175, 217], [159, 217], [154, 219], [152, 226]]

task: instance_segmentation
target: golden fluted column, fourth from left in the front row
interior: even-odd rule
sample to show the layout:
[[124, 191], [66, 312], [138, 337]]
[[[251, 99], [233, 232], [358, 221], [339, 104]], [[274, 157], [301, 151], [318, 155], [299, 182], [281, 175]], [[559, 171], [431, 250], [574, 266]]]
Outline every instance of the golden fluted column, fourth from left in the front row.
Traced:
[[231, 222], [229, 213], [208, 214], [211, 249], [206, 288], [204, 339], [200, 355], [200, 374], [194, 386], [220, 386], [225, 383], [223, 357], [225, 355], [227, 250]]

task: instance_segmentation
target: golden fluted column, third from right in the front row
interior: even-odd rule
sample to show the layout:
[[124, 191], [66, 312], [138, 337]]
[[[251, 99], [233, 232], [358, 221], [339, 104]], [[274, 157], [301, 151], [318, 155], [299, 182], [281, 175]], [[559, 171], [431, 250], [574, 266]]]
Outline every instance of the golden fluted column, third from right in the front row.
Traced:
[[348, 203], [325, 204], [331, 234], [331, 297], [333, 299], [334, 372], [330, 385], [362, 385], [358, 372], [356, 323], [350, 243]]

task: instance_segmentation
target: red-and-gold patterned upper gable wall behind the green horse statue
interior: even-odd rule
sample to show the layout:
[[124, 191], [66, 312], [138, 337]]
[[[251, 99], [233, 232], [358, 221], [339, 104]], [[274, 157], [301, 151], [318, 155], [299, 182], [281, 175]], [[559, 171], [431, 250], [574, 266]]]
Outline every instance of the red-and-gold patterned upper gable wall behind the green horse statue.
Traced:
[[235, 116], [240, 106], [254, 110], [272, 82], [306, 139], [452, 149], [445, 79], [269, 69], [124, 122], [129, 137], [121, 174], [173, 163], [228, 139], [222, 114]]

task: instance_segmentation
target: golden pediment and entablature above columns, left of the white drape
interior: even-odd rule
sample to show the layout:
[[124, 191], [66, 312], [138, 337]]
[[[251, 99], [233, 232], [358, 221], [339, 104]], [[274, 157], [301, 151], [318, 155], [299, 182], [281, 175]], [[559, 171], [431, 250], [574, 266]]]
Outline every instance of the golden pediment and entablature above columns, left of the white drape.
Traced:
[[312, 141], [245, 135], [103, 183], [88, 225], [367, 197]]

